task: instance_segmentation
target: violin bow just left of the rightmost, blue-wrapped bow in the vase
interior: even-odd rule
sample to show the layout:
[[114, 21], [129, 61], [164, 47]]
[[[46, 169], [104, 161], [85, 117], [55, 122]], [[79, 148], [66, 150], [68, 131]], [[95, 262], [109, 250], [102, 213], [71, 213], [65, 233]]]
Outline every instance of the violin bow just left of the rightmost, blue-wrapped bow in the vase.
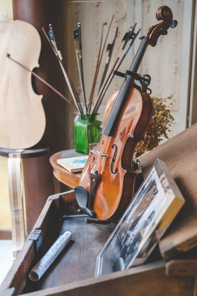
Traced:
[[[118, 53], [118, 57], [115, 57], [115, 59], [113, 60], [112, 66], [110, 67], [110, 69], [108, 70], [108, 73], [106, 74], [105, 80], [102, 83], [101, 89], [100, 89], [100, 91], [99, 91], [99, 93], [97, 95], [97, 99], [96, 99], [95, 104], [93, 106], [92, 114], [95, 113], [95, 110], [98, 110], [98, 107], [101, 104], [103, 96], [104, 96], [104, 94], [105, 94], [105, 92], [106, 92], [106, 90], [107, 90], [107, 88], [108, 88], [108, 86], [109, 86], [109, 84], [111, 82], [110, 77], [112, 77], [113, 70], [115, 69], [116, 65], [118, 64], [118, 60], [123, 55], [123, 52], [124, 52], [124, 49], [125, 49], [125, 46], [126, 46], [127, 42], [132, 38], [133, 32], [134, 32], [135, 27], [136, 27], [136, 24], [137, 23], [135, 23], [135, 25], [133, 27], [132, 26], [130, 27], [129, 31], [125, 33], [125, 35], [124, 35], [124, 37], [123, 37], [123, 39], [121, 41], [122, 48], [121, 48], [120, 52]], [[109, 80], [110, 80], [110, 82], [109, 82]], [[97, 107], [97, 105], [98, 105], [98, 107]]]

